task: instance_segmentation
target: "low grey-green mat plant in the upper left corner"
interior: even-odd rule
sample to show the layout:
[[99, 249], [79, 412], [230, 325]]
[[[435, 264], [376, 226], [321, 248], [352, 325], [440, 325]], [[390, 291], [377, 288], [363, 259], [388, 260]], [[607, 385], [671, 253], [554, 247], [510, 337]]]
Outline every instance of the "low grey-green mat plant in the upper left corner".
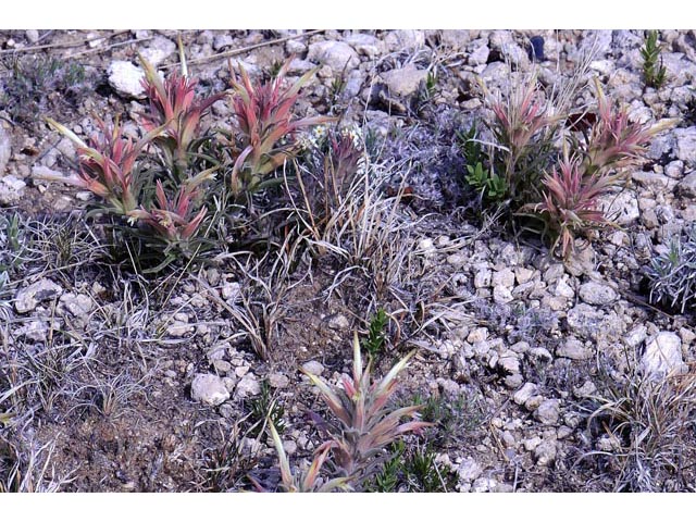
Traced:
[[15, 58], [8, 70], [0, 90], [0, 108], [18, 124], [32, 124], [38, 114], [76, 107], [94, 84], [83, 64], [59, 58]]

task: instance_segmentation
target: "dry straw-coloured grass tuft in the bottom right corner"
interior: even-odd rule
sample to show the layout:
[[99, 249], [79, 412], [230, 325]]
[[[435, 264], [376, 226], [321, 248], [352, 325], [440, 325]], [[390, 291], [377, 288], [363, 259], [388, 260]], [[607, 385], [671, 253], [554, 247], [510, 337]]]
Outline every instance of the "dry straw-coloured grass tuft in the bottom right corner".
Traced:
[[583, 456], [611, 470], [616, 492], [687, 490], [696, 448], [696, 374], [655, 381], [632, 371], [606, 380], [587, 420], [597, 436]]

